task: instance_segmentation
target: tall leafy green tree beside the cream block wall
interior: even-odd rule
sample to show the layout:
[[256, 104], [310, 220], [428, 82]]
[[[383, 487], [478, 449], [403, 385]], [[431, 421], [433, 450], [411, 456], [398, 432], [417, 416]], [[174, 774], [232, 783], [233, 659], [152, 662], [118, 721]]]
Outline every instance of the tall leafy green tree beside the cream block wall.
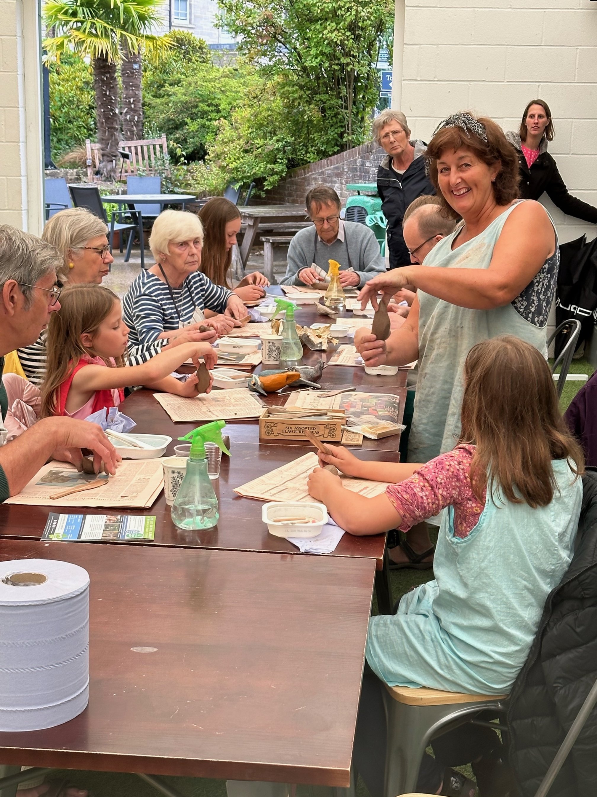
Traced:
[[[362, 143], [378, 96], [375, 63], [392, 0], [219, 0], [221, 22], [289, 112], [308, 98], [326, 123], [329, 154]], [[303, 100], [304, 101], [304, 100]], [[332, 147], [331, 142], [335, 145]]]

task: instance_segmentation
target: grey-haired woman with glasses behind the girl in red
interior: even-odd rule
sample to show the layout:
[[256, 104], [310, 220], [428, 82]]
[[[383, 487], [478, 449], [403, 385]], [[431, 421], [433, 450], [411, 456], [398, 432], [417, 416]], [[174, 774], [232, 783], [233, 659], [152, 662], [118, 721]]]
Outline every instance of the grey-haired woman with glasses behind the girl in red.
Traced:
[[[60, 284], [94, 283], [101, 285], [103, 277], [110, 272], [114, 262], [107, 242], [107, 227], [101, 218], [82, 207], [60, 210], [45, 225], [41, 234], [43, 241], [55, 246], [63, 263], [57, 270]], [[215, 339], [215, 333], [213, 335]], [[148, 359], [162, 351], [166, 344], [189, 342], [185, 338], [156, 341], [153, 344], [134, 346], [128, 352], [131, 365], [146, 363]], [[31, 346], [18, 350], [18, 358], [25, 376], [33, 384], [40, 384], [45, 371], [45, 331]]]

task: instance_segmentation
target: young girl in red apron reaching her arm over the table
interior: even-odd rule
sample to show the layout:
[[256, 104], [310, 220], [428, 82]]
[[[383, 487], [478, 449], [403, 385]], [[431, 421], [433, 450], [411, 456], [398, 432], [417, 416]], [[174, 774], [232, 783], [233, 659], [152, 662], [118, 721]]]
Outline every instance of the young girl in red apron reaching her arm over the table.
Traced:
[[[123, 388], [143, 385], [181, 396], [197, 395], [197, 376], [172, 376], [187, 359], [207, 367], [217, 362], [210, 344], [181, 344], [142, 365], [127, 366], [128, 327], [120, 300], [101, 285], [68, 285], [60, 294], [60, 312], [48, 324], [48, 363], [41, 388], [42, 415], [87, 418], [118, 406]], [[211, 389], [211, 384], [209, 386]]]

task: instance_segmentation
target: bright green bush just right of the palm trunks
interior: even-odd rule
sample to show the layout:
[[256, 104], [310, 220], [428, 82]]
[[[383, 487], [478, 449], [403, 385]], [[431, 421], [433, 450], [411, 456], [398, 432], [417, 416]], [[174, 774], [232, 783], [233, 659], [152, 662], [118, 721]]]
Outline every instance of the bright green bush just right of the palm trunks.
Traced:
[[187, 160], [202, 160], [219, 120], [229, 119], [261, 80], [246, 65], [213, 65], [205, 41], [191, 33], [173, 33], [169, 52], [146, 65], [143, 73], [146, 129], [166, 133], [173, 159], [174, 147], [179, 147]]

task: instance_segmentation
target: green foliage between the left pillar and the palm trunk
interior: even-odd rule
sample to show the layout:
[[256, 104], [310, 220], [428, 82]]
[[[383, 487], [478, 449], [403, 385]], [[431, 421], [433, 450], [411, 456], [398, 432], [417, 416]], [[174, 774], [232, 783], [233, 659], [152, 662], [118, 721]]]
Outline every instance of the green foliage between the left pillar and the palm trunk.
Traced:
[[96, 137], [96, 104], [93, 101], [93, 72], [83, 58], [70, 53], [60, 63], [49, 65], [50, 126], [52, 156]]

